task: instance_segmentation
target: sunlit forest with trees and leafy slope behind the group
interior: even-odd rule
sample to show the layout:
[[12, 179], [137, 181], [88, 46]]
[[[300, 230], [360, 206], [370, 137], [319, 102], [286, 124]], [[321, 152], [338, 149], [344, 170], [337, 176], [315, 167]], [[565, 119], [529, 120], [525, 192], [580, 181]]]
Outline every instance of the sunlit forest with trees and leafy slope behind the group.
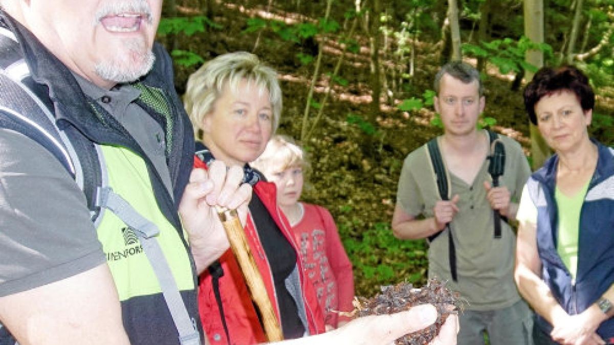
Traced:
[[433, 76], [446, 61], [482, 74], [479, 126], [515, 138], [534, 166], [548, 155], [522, 90], [542, 65], [572, 63], [591, 78], [590, 131], [614, 142], [614, 0], [165, 0], [158, 39], [180, 95], [217, 55], [255, 53], [279, 72], [278, 133], [311, 157], [303, 200], [327, 207], [354, 265], [357, 295], [426, 282], [427, 244], [400, 241], [390, 222], [403, 159], [441, 123]]

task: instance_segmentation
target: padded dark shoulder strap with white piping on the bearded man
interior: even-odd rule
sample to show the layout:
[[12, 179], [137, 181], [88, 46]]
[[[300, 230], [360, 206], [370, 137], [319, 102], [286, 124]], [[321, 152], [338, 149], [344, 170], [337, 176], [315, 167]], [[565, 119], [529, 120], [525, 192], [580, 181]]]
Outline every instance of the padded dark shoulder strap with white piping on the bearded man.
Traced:
[[[101, 168], [92, 142], [61, 128], [47, 88], [34, 82], [15, 35], [0, 23], [0, 128], [21, 133], [48, 150], [84, 191], [92, 221]], [[96, 222], [95, 222], [96, 223]]]

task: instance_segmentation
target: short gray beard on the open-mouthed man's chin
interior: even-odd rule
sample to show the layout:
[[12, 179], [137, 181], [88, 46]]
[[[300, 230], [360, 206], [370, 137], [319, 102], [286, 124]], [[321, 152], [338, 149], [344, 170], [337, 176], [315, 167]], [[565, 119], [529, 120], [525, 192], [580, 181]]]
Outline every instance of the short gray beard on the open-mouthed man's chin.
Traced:
[[[134, 52], [131, 52], [132, 54]], [[142, 53], [141, 53], [142, 54]], [[104, 80], [115, 83], [133, 82], [149, 72], [155, 62], [155, 55], [151, 50], [147, 50], [146, 56], [139, 56], [139, 63], [125, 63], [123, 61], [103, 61], [96, 64], [96, 74]]]

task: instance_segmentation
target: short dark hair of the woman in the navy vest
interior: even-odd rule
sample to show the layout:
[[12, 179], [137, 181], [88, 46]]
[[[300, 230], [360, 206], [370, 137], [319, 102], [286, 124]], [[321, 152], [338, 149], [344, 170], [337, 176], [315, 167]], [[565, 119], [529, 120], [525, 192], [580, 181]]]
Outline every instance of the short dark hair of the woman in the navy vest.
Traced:
[[529, 114], [529, 120], [537, 125], [535, 104], [543, 96], [550, 96], [561, 91], [572, 91], [578, 98], [582, 110], [592, 110], [595, 106], [595, 93], [588, 82], [588, 77], [573, 66], [559, 68], [541, 68], [533, 80], [524, 88], [524, 107]]

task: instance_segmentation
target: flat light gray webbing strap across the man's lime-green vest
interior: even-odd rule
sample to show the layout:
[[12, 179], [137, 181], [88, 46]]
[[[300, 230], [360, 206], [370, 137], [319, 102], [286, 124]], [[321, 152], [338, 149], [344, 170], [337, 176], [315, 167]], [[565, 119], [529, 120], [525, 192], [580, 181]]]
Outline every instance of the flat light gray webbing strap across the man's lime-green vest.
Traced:
[[128, 201], [113, 192], [111, 187], [98, 188], [96, 205], [113, 212], [128, 227], [134, 230], [139, 241], [141, 241], [143, 252], [145, 252], [147, 260], [149, 260], [158, 278], [166, 306], [168, 306], [175, 327], [179, 332], [179, 342], [182, 345], [200, 345], [200, 334], [185, 308], [173, 273], [168, 266], [168, 262], [166, 262], [166, 257], [162, 252], [160, 244], [155, 239], [155, 236], [160, 233], [158, 227], [145, 217], [142, 217]]

